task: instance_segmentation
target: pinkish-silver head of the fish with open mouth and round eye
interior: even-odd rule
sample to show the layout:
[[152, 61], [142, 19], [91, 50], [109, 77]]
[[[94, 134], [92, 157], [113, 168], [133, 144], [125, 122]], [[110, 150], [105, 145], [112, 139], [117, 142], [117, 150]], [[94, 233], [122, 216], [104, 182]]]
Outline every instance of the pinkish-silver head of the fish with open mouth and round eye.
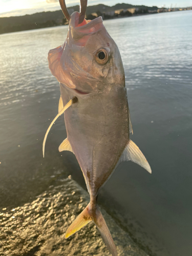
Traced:
[[81, 95], [124, 86], [124, 69], [117, 45], [103, 26], [102, 17], [71, 15], [65, 43], [50, 50], [49, 68], [57, 80]]

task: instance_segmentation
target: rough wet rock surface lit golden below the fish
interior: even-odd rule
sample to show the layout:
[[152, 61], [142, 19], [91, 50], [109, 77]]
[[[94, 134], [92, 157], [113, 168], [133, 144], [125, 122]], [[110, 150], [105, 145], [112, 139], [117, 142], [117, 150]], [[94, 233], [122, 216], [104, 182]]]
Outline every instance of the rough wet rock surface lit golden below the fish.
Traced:
[[[88, 193], [71, 177], [58, 179], [31, 203], [1, 212], [0, 255], [110, 255], [94, 223], [65, 239], [71, 222], [87, 206]], [[118, 256], [147, 256], [114, 219], [101, 209]]]

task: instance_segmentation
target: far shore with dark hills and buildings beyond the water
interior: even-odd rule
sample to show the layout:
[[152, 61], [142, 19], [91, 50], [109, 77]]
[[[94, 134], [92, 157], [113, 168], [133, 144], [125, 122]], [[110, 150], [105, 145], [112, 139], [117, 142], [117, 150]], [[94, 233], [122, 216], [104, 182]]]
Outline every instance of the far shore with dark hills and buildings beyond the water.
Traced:
[[[132, 16], [133, 14], [139, 13], [157, 12], [157, 10], [157, 6], [137, 6], [124, 3], [116, 4], [114, 6], [98, 4], [88, 6], [86, 14], [87, 19], [94, 19], [97, 16], [102, 16], [103, 19], [112, 19], [114, 17]], [[38, 9], [36, 11], [38, 11]], [[75, 11], [79, 11], [79, 6], [76, 5], [69, 7], [68, 11], [70, 14]], [[10, 13], [8, 15], [10, 15]], [[23, 16], [2, 16], [0, 17], [0, 34], [33, 30], [38, 28], [56, 27], [67, 24], [68, 20], [63, 16], [60, 9], [57, 11], [37, 12], [31, 15], [26, 14]]]

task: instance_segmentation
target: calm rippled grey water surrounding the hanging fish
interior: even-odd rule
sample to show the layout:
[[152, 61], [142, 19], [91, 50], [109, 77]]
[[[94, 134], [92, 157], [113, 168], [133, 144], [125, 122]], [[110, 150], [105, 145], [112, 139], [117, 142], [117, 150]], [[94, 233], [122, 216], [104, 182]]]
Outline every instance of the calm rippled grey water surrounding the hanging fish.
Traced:
[[[192, 11], [104, 22], [123, 60], [131, 139], [150, 163], [152, 175], [124, 162], [103, 187], [99, 201], [151, 255], [192, 253], [191, 24]], [[2, 208], [33, 200], [60, 173], [71, 174], [85, 187], [73, 154], [58, 152], [66, 138], [61, 117], [42, 158], [42, 140], [60, 97], [47, 53], [63, 43], [67, 30], [62, 26], [0, 36]]]

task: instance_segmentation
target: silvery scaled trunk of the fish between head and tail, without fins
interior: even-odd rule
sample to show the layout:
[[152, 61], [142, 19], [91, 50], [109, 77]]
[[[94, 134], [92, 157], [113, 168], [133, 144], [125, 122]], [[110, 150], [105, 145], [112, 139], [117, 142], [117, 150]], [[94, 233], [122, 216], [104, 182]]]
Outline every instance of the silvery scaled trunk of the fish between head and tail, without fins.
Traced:
[[84, 97], [60, 84], [63, 103], [78, 102], [65, 112], [67, 137], [91, 195], [113, 172], [129, 141], [129, 113], [123, 86], [112, 86]]

